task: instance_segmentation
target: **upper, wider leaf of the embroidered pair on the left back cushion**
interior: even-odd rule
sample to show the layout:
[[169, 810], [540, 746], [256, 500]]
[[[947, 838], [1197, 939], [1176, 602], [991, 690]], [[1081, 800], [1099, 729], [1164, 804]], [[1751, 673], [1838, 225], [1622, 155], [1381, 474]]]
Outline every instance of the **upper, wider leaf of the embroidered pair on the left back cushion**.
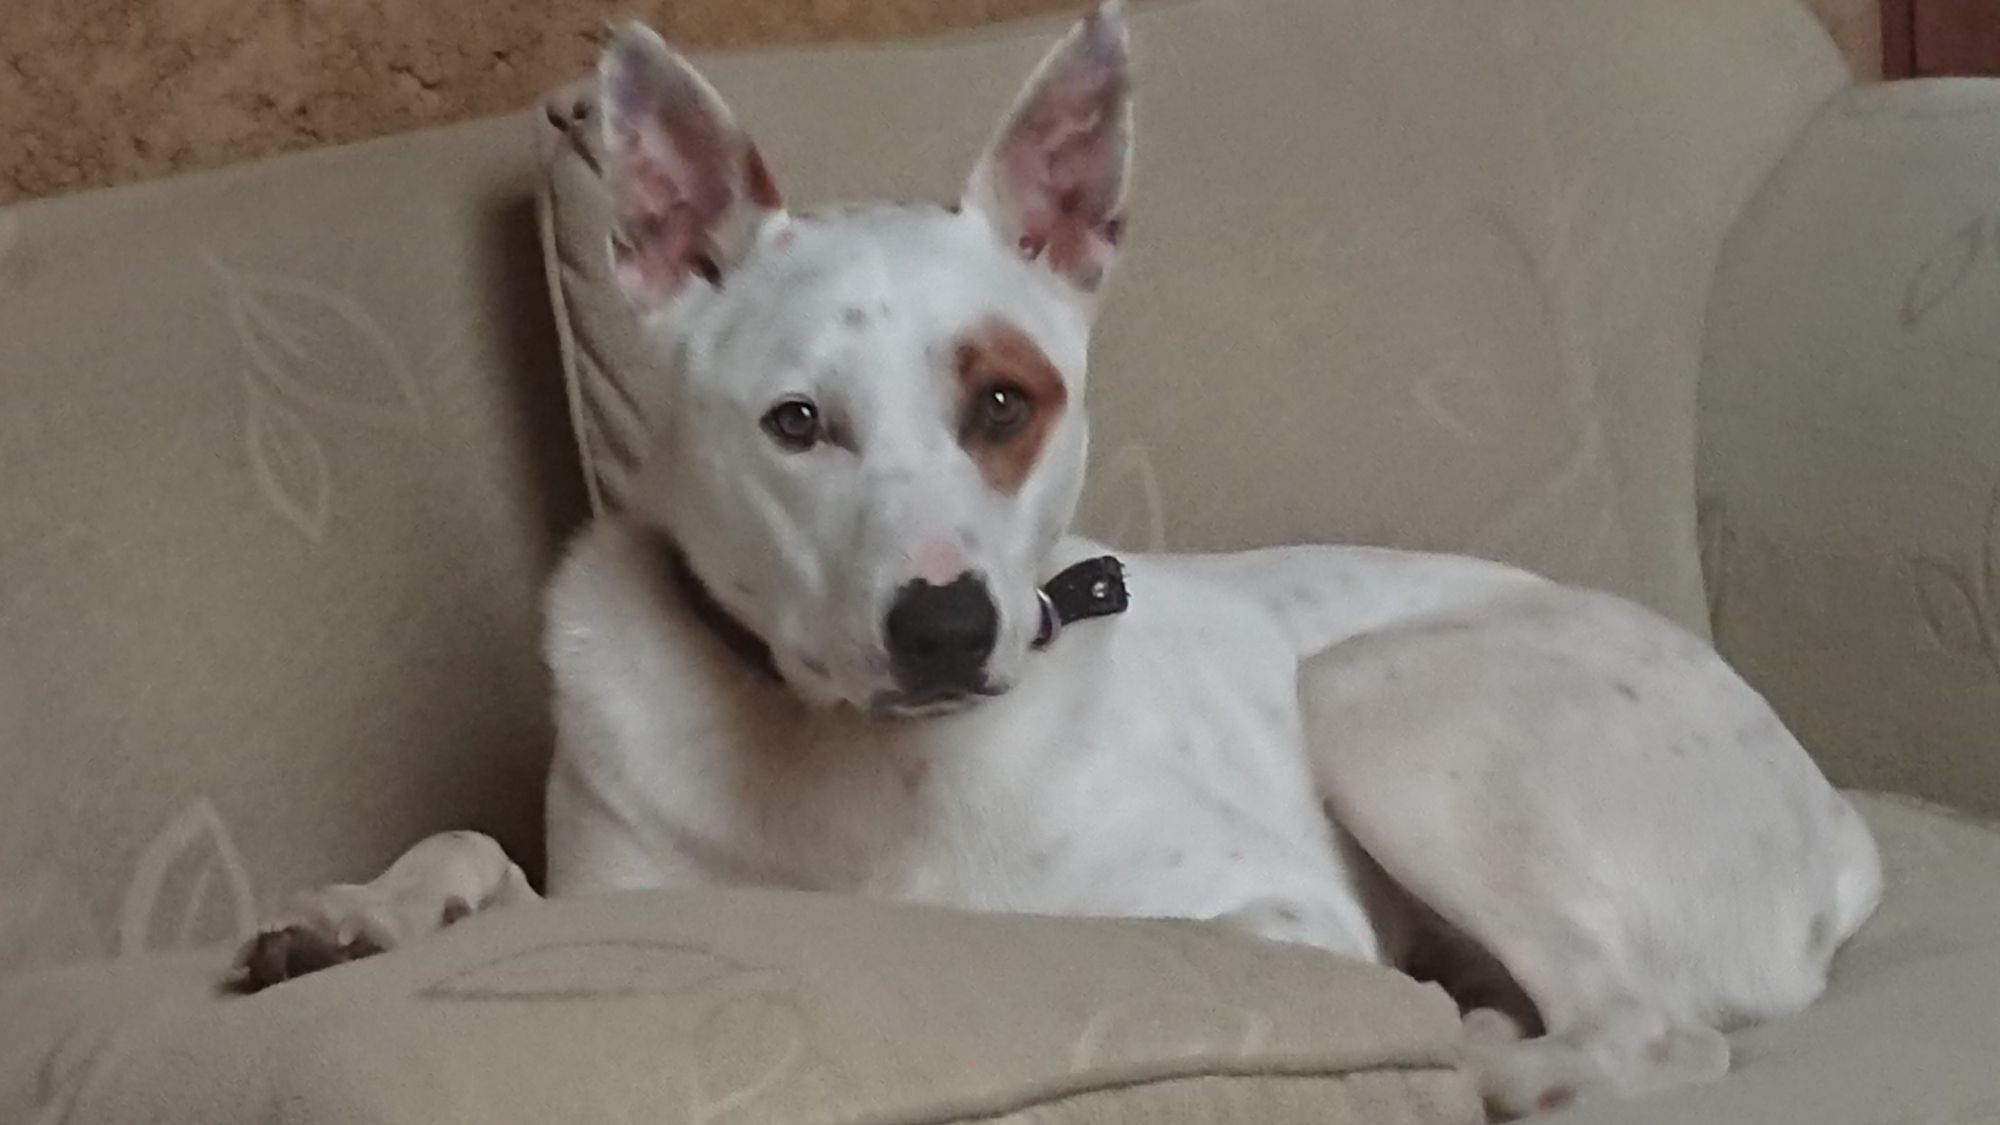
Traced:
[[214, 256], [208, 264], [260, 382], [346, 422], [426, 428], [408, 358], [358, 300], [302, 278], [240, 272]]

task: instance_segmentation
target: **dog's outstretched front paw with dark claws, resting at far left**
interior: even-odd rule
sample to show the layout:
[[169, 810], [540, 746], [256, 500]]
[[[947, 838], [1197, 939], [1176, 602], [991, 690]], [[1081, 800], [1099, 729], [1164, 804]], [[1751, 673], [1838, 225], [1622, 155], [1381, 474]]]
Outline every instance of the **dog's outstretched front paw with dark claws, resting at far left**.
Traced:
[[540, 895], [520, 865], [480, 833], [438, 833], [370, 883], [334, 883], [292, 907], [236, 953], [234, 983], [258, 991], [408, 945], [466, 915]]

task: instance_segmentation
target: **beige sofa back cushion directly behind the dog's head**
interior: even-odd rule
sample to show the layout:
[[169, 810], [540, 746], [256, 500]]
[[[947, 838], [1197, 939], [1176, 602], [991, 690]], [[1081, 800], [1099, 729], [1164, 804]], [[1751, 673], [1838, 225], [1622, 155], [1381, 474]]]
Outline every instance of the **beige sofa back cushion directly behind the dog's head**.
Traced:
[[[1048, 38], [702, 64], [792, 200], [942, 200]], [[1082, 528], [1466, 550], [1704, 629], [1702, 298], [1724, 228], [1844, 82], [1804, 8], [1192, 0], [1140, 12], [1134, 54]], [[656, 382], [574, 100], [544, 134], [548, 258], [616, 500]]]

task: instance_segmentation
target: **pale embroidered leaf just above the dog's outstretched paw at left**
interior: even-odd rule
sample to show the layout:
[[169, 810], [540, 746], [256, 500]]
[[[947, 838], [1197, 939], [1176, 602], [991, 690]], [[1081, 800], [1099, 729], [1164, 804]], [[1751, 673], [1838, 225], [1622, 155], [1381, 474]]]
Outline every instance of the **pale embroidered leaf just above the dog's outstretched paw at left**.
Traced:
[[[226, 899], [212, 901], [218, 891]], [[256, 903], [242, 855], [216, 807], [196, 801], [140, 853], [118, 911], [118, 953], [186, 949], [254, 931]]]

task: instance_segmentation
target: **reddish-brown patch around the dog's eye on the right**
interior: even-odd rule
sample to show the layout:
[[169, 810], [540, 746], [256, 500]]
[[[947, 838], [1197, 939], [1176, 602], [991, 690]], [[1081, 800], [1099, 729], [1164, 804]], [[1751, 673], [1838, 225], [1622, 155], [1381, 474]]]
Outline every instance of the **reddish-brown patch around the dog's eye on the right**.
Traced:
[[982, 320], [958, 340], [954, 372], [958, 444], [988, 486], [1018, 492], [1068, 404], [1062, 374], [1026, 332], [1000, 318]]

